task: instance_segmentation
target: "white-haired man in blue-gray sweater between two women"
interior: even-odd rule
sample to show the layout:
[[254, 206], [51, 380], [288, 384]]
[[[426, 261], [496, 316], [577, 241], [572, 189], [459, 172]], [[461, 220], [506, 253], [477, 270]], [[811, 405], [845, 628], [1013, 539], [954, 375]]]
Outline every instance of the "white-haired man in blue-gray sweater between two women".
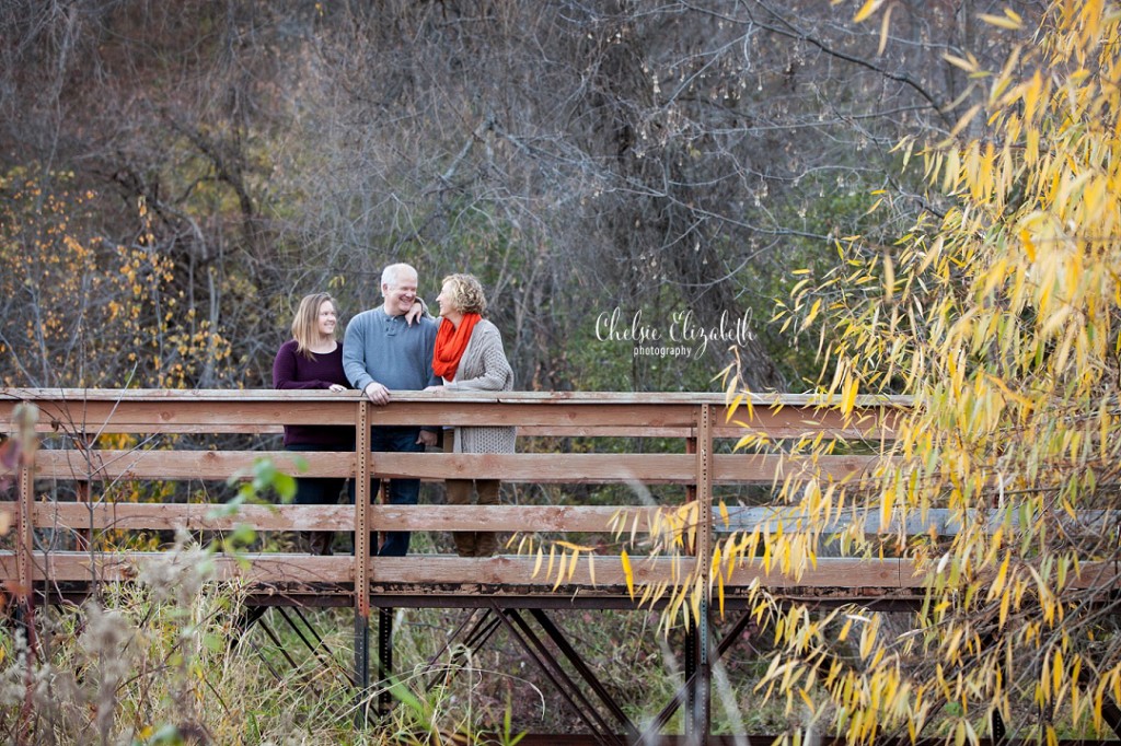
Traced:
[[[380, 308], [363, 311], [346, 325], [343, 370], [351, 384], [374, 404], [389, 403], [390, 391], [420, 391], [437, 383], [432, 372], [436, 324], [420, 317], [409, 324], [406, 314], [417, 300], [417, 271], [408, 264], [390, 264], [381, 273]], [[436, 444], [436, 430], [419, 426], [380, 426], [370, 429], [374, 451], [416, 453]], [[419, 479], [390, 479], [389, 502], [416, 505]], [[409, 550], [408, 531], [390, 531], [378, 554], [404, 557]]]

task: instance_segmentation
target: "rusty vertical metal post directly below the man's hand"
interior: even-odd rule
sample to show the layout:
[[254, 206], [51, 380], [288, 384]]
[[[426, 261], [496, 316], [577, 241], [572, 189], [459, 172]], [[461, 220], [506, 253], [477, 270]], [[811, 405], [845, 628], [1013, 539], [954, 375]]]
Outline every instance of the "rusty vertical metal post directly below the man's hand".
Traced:
[[362, 397], [354, 418], [354, 686], [355, 727], [367, 721], [370, 690], [370, 404]]

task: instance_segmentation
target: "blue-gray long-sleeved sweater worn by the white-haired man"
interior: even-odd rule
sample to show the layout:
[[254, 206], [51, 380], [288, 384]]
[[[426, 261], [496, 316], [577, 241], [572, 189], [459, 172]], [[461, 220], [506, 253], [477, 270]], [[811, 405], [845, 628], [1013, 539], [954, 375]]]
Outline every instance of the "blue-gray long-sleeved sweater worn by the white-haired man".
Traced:
[[420, 391], [441, 383], [432, 372], [436, 323], [420, 317], [413, 326], [383, 308], [362, 311], [346, 325], [343, 371], [359, 391], [372, 381], [390, 391]]

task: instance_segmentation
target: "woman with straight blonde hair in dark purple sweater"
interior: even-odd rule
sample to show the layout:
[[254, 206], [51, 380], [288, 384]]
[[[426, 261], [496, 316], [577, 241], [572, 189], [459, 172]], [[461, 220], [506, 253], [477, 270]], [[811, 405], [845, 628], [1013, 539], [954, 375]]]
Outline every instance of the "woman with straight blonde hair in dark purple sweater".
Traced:
[[[276, 389], [326, 389], [345, 391], [350, 388], [343, 372], [343, 346], [335, 339], [339, 314], [334, 299], [325, 292], [306, 296], [299, 301], [291, 323], [293, 338], [284, 343], [272, 362], [272, 385]], [[321, 425], [286, 425], [285, 450], [322, 451], [354, 450], [354, 430]], [[333, 505], [345, 486], [342, 478], [297, 478], [297, 505]], [[334, 533], [305, 531], [313, 554], [330, 554]]]

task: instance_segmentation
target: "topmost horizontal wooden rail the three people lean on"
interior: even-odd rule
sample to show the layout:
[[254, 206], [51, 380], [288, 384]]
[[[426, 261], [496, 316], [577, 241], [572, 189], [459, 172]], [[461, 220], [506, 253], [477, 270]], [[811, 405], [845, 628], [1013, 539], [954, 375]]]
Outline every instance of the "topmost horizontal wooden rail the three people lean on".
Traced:
[[[510, 425], [534, 435], [582, 432], [631, 437], [687, 435], [696, 408], [713, 408], [714, 435], [739, 437], [745, 429], [776, 439], [816, 436], [890, 437], [905, 398], [863, 397], [852, 417], [807, 395], [754, 395], [730, 420], [722, 394], [615, 392], [424, 393], [393, 392], [388, 407], [371, 408], [377, 425]], [[174, 391], [112, 389], [0, 390], [0, 429], [10, 429], [20, 401], [40, 410], [41, 432], [184, 433], [276, 432], [282, 425], [354, 427], [361, 394], [326, 391]]]

